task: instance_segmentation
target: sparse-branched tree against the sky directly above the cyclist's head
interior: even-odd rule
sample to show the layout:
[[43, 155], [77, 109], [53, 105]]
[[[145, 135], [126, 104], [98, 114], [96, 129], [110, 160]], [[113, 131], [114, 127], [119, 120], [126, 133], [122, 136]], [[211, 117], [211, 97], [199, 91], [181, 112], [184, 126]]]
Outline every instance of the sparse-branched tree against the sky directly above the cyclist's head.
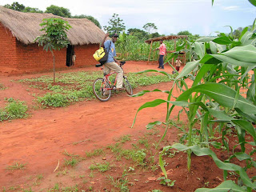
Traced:
[[103, 26], [103, 28], [109, 34], [119, 34], [122, 30], [126, 30], [126, 26], [124, 26], [122, 19], [118, 18], [118, 14], [113, 14], [108, 23], [109, 26]]

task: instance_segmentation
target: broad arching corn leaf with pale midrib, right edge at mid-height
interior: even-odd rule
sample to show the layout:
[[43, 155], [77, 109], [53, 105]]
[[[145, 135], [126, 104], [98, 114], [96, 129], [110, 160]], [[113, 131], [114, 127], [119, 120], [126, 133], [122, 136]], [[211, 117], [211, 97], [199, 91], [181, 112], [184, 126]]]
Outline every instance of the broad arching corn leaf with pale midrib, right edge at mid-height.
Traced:
[[[199, 92], [206, 94], [210, 98], [213, 98], [215, 102], [218, 102], [221, 106], [233, 107], [236, 91], [229, 86], [209, 82], [202, 85], [194, 86], [189, 90], [183, 92], [176, 102], [187, 101], [193, 92]], [[238, 97], [238, 101], [234, 106], [246, 114], [256, 114], [256, 106], [253, 103], [243, 98], [241, 95]]]

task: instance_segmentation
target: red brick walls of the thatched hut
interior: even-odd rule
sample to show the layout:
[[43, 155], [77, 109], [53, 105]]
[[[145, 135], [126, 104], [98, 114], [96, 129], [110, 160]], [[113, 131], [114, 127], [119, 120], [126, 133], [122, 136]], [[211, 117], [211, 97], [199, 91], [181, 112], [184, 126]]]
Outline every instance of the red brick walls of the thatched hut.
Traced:
[[[97, 62], [93, 58], [98, 44], [74, 46], [76, 61], [74, 67], [91, 66]], [[34, 71], [45, 71], [53, 69], [53, 56], [50, 51], [46, 52], [38, 44], [25, 45], [18, 42], [0, 23], [0, 72], [9, 74], [22, 74]], [[56, 69], [68, 68], [66, 66], [66, 48], [54, 51]]]

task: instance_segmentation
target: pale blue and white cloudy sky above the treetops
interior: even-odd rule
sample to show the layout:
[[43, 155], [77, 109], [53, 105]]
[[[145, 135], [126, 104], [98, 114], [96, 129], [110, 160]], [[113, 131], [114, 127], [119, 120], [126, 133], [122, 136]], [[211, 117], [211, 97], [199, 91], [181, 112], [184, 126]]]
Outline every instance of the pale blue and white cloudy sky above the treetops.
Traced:
[[143, 30], [154, 23], [159, 34], [177, 34], [188, 30], [200, 36], [215, 32], [230, 33], [238, 27], [250, 26], [256, 18], [256, 7], [248, 0], [0, 0], [0, 6], [18, 2], [45, 11], [50, 5], [62, 6], [72, 16], [91, 15], [108, 26], [113, 14], [118, 14], [126, 26]]

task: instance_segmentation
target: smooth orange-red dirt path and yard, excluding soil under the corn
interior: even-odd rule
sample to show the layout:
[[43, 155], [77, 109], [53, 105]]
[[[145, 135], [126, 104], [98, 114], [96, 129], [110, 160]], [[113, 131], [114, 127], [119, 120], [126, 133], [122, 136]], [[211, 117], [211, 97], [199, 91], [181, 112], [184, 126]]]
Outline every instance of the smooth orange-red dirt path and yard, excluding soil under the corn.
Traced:
[[[157, 67], [139, 62], [127, 62], [125, 66], [126, 72], [152, 68]], [[95, 68], [92, 66], [79, 70], [95, 70]], [[165, 70], [169, 73], [172, 71], [170, 66], [166, 66]], [[6, 85], [8, 90], [0, 91], [0, 100], [2, 101], [5, 96], [31, 102], [34, 98], [26, 91], [27, 87], [10, 80], [36, 75], [38, 74], [2, 77], [1, 83]], [[156, 88], [170, 90], [171, 83], [138, 88], [134, 93]], [[164, 122], [166, 106], [162, 105], [140, 111], [134, 129], [130, 128], [136, 111], [143, 103], [155, 98], [166, 99], [166, 95], [150, 93], [143, 97], [130, 98], [122, 93], [114, 95], [108, 102], [92, 100], [79, 102], [66, 108], [34, 110], [31, 118], [2, 122], [0, 125], [0, 186], [14, 186], [26, 181], [28, 175], [32, 174], [53, 173], [58, 159], [61, 161], [63, 159], [64, 150], [84, 154], [85, 151], [114, 142], [113, 138], [146, 130], [145, 126], [148, 122], [156, 120]], [[78, 145], [74, 145], [75, 142], [79, 142]], [[26, 174], [22, 171], [6, 170], [6, 166], [14, 162], [26, 164]]]

